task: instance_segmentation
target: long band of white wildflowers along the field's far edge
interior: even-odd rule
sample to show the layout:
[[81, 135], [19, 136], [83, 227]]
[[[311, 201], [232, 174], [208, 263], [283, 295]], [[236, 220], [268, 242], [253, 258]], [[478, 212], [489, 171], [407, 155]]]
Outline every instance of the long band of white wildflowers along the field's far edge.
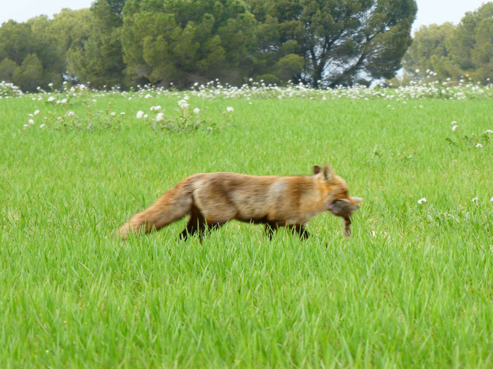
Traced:
[[[247, 100], [253, 98], [278, 98], [278, 99], [293, 99], [293, 98], [309, 98], [319, 100], [334, 100], [334, 99], [364, 99], [364, 100], [393, 100], [406, 102], [407, 100], [416, 99], [442, 99], [442, 100], [467, 100], [467, 99], [493, 99], [493, 84], [486, 86], [475, 85], [467, 76], [463, 77], [459, 82], [445, 81], [439, 82], [435, 80], [433, 71], [427, 73], [426, 78], [421, 81], [411, 81], [409, 86], [401, 86], [393, 88], [388, 84], [374, 84], [370, 87], [362, 85], [354, 85], [352, 87], [336, 86], [335, 88], [314, 88], [303, 83], [293, 84], [290, 81], [285, 86], [276, 84], [266, 84], [262, 80], [253, 82], [252, 79], [248, 83], [240, 87], [231, 86], [229, 84], [222, 85], [218, 79], [210, 81], [206, 84], [199, 85], [195, 83], [188, 91], [178, 91], [174, 87], [170, 89], [155, 88], [150, 85], [138, 86], [137, 89], [129, 89], [129, 91], [121, 91], [119, 87], [113, 87], [109, 90], [106, 88], [103, 91], [90, 89], [86, 85], [76, 85], [70, 88], [63, 85], [63, 91], [52, 90], [45, 92], [41, 89], [37, 94], [26, 93], [8, 87], [9, 93], [17, 97], [30, 97], [33, 100], [43, 100], [56, 104], [57, 102], [64, 103], [64, 99], [69, 101], [70, 97], [86, 96], [91, 94], [92, 97], [105, 96], [121, 96], [126, 99], [145, 98], [152, 99], [160, 96], [170, 96], [182, 98], [186, 96], [198, 98], [245, 98]], [[1, 85], [0, 85], [1, 86]], [[15, 89], [14, 89], [15, 90]], [[1, 91], [1, 87], [0, 87]], [[47, 97], [46, 97], [47, 96]], [[1, 97], [1, 92], [0, 92]]]

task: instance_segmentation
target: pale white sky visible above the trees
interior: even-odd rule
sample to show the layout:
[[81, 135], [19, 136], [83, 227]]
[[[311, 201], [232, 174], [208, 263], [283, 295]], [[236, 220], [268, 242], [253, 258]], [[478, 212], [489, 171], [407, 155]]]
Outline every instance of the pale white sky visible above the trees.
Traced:
[[[399, 1], [399, 0], [394, 0]], [[0, 0], [0, 24], [13, 19], [27, 21], [36, 15], [50, 17], [64, 7], [81, 9], [91, 5], [92, 0]], [[417, 0], [418, 16], [413, 25], [416, 30], [421, 25], [444, 22], [458, 23], [466, 11], [472, 11], [486, 0]]]

